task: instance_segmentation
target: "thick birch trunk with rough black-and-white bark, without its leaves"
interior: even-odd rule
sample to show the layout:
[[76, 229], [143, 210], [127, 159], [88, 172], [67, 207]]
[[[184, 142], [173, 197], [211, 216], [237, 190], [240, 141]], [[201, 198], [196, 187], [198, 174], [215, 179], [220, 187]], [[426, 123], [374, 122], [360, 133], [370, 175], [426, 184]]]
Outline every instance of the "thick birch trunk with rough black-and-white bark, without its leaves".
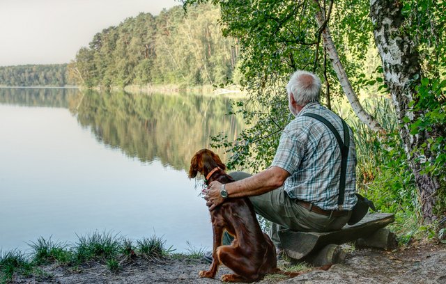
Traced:
[[410, 134], [410, 124], [423, 115], [416, 111], [410, 102], [417, 102], [415, 86], [420, 84], [421, 65], [420, 56], [413, 48], [410, 38], [401, 32], [403, 15], [401, 5], [396, 1], [370, 0], [370, 15], [374, 24], [374, 38], [376, 47], [383, 61], [384, 77], [392, 93], [392, 100], [397, 111], [399, 134], [403, 141], [410, 168], [415, 175], [417, 189], [422, 202], [424, 221], [431, 223], [437, 219], [433, 212], [436, 205], [436, 191], [440, 187], [438, 179], [422, 173], [422, 162], [429, 159], [429, 152], [422, 155], [417, 150], [431, 134], [426, 131]]

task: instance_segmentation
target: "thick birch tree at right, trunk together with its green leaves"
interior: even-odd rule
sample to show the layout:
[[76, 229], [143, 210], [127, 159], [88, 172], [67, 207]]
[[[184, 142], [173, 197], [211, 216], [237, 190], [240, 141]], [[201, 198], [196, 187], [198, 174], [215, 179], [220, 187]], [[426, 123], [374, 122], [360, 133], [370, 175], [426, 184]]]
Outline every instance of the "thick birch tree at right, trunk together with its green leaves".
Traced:
[[[429, 86], [429, 79], [425, 76], [426, 72], [422, 70], [421, 63], [423, 61], [420, 52], [418, 52], [420, 45], [417, 46], [417, 43], [420, 42], [411, 38], [410, 32], [407, 31], [408, 18], [402, 13], [403, 3], [371, 0], [370, 7], [370, 15], [374, 24], [374, 38], [383, 61], [385, 82], [392, 94], [394, 108], [397, 111], [400, 124], [399, 134], [408, 163], [415, 175], [415, 182], [422, 201], [424, 221], [430, 223], [438, 219], [437, 214], [439, 212], [436, 212], [435, 208], [441, 201], [439, 199], [445, 198], [444, 195], [438, 194], [440, 188], [443, 193], [445, 191], [445, 180], [442, 180], [445, 175], [444, 170], [440, 170], [442, 172], [435, 171], [435, 168], [429, 170], [429, 164], [438, 164], [439, 161], [444, 161], [446, 149], [443, 148], [442, 151], [441, 145], [444, 145], [446, 125], [445, 108], [442, 108], [441, 104], [445, 103], [444, 85], [446, 82], [444, 77], [443, 80], [440, 79], [440, 82], [443, 82], [440, 83], [443, 84], [443, 90], [440, 87], [438, 97], [432, 92], [431, 88], [427, 92], [420, 92], [423, 86]], [[422, 6], [420, 7], [422, 8]], [[431, 6], [431, 9], [435, 8], [435, 6]], [[417, 13], [421, 11], [417, 11]], [[441, 19], [437, 18], [436, 20]], [[429, 19], [425, 18], [424, 21], [429, 22]], [[435, 23], [430, 23], [428, 29], [433, 26], [435, 26]], [[431, 32], [432, 35], [437, 33], [435, 30]], [[429, 62], [425, 63], [429, 65]], [[440, 62], [437, 61], [437, 64], [440, 65], [440, 63], [442, 63], [441, 59]], [[435, 73], [438, 78], [440, 72]], [[420, 107], [422, 100], [428, 99], [430, 101], [429, 106]], [[436, 107], [439, 107], [440, 118], [443, 113], [443, 121], [429, 123], [428, 127], [419, 127], [420, 123], [425, 122], [425, 118], [429, 117]], [[434, 145], [436, 143], [440, 145], [438, 147], [440, 151], [436, 150]], [[445, 165], [439, 164], [438, 166], [444, 167]]]

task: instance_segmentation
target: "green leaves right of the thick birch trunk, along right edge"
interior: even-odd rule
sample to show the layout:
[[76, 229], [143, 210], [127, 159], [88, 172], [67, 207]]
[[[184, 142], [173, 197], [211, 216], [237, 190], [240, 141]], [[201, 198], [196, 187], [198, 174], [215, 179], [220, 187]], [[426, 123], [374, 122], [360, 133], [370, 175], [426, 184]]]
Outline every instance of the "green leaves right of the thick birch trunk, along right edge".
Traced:
[[[410, 102], [413, 113], [422, 113], [410, 121], [410, 134], [423, 136], [424, 143], [410, 155], [422, 165], [422, 174], [438, 182], [434, 214], [446, 214], [446, 8], [445, 1], [404, 1], [401, 10], [405, 17], [403, 30], [413, 40], [420, 54], [421, 78]], [[410, 115], [410, 113], [408, 114]], [[403, 118], [408, 123], [407, 116]]]

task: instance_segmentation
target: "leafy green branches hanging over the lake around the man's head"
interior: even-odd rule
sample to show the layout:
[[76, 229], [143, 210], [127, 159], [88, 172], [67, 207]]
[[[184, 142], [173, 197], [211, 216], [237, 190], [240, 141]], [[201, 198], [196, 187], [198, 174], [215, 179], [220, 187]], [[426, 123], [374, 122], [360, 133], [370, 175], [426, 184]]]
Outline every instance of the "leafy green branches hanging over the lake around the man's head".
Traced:
[[[202, 2], [206, 1], [189, 0], [185, 1], [185, 6], [192, 7]], [[314, 17], [317, 9], [315, 1], [210, 2], [219, 5], [222, 10], [224, 35], [237, 38], [240, 42], [240, 72], [243, 75], [240, 83], [249, 98], [247, 102], [238, 103], [238, 109], [234, 109], [243, 114], [250, 125], [236, 141], [224, 136], [214, 137], [213, 146], [232, 153], [230, 167], [259, 171], [270, 165], [282, 129], [293, 118], [288, 110], [284, 88], [289, 75], [297, 69], [316, 72], [325, 78], [327, 88], [323, 97], [328, 99], [341, 97], [341, 88], [330, 64], [325, 56], [321, 56], [324, 50]], [[360, 4], [355, 1], [337, 2], [331, 17], [341, 19], [344, 28], [353, 21], [361, 22], [364, 13], [344, 13], [346, 9], [355, 10], [356, 6], [363, 9], [364, 3]], [[345, 30], [334, 33], [336, 38], [345, 36]], [[346, 51], [341, 58], [351, 57], [352, 54], [355, 53]], [[363, 58], [359, 57], [355, 64], [348, 65], [351, 68], [349, 72], [360, 68], [360, 59]], [[331, 103], [330, 100], [326, 102]]]

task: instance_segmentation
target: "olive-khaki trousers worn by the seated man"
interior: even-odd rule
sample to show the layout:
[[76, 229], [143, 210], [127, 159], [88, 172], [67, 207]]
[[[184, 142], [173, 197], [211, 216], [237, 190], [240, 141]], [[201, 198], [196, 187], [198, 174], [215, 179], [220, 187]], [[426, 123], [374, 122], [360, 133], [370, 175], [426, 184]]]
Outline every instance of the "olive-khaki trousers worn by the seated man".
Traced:
[[[249, 173], [229, 173], [234, 180], [243, 180]], [[289, 198], [283, 187], [259, 196], [249, 196], [256, 214], [272, 222], [270, 237], [276, 248], [281, 248], [278, 231], [290, 229], [303, 232], [327, 232], [339, 230], [350, 219], [351, 212], [342, 216], [325, 216], [309, 211]]]

